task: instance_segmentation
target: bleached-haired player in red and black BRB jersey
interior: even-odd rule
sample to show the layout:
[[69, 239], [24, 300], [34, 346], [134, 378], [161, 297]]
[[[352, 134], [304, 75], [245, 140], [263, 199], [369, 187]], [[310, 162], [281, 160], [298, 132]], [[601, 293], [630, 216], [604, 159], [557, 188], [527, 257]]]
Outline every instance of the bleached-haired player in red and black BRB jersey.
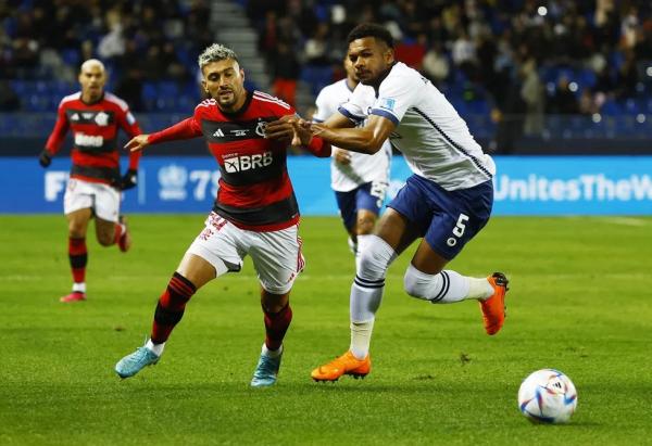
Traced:
[[[156, 362], [195, 292], [228, 271], [239, 271], [250, 255], [261, 284], [266, 334], [251, 385], [268, 386], [276, 382], [283, 340], [292, 319], [290, 290], [303, 269], [287, 149], [294, 143], [327, 157], [330, 146], [310, 131], [292, 140], [293, 127], [284, 124], [284, 117], [294, 116], [294, 110], [266, 93], [247, 91], [244, 72], [230, 49], [206, 48], [199, 66], [212, 99], [200, 103], [192, 117], [136, 137], [127, 148], [140, 151], [148, 144], [203, 136], [221, 173], [215, 205], [159, 300], [150, 339], [121, 359], [115, 371], [128, 378]], [[267, 123], [279, 119], [267, 132]]]

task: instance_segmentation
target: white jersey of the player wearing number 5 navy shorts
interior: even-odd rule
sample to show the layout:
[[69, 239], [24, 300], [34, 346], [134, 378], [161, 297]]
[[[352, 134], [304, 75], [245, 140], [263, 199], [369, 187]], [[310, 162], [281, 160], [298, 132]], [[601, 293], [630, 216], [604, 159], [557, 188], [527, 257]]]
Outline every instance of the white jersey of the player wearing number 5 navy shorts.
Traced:
[[397, 62], [369, 97], [362, 84], [339, 112], [354, 123], [369, 115], [397, 125], [390, 136], [413, 173], [446, 190], [467, 189], [496, 175], [493, 160], [475, 141], [464, 119], [417, 71]]

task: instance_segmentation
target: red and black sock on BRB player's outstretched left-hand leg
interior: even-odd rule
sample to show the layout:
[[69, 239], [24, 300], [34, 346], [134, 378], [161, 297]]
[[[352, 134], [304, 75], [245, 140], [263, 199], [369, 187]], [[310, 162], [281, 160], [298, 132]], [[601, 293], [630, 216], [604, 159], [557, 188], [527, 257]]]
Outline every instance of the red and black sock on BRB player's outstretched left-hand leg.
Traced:
[[154, 311], [154, 323], [152, 324], [151, 340], [154, 344], [167, 341], [174, 327], [184, 317], [186, 304], [192, 297], [197, 288], [184, 276], [175, 272], [167, 288], [159, 298]]

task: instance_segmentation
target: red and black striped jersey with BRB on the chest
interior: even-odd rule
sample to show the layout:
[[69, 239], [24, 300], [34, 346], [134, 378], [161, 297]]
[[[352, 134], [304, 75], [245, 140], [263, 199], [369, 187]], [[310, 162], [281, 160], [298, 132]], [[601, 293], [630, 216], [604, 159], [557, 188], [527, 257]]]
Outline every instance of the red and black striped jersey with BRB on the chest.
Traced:
[[[213, 211], [239, 228], [275, 231], [299, 221], [299, 206], [286, 166], [288, 144], [265, 139], [264, 131], [266, 123], [293, 114], [290, 105], [260, 91], [248, 92], [244, 105], [233, 114], [206, 99], [192, 117], [150, 135], [148, 141], [203, 136], [221, 173]], [[330, 156], [327, 144], [311, 143], [308, 150]]]

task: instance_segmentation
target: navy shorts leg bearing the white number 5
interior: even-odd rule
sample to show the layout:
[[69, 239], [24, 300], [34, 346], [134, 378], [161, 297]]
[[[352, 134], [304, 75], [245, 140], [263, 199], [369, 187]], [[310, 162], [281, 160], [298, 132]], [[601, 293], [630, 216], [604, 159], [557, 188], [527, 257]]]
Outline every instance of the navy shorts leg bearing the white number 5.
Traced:
[[493, 189], [488, 181], [471, 189], [444, 191], [436, 201], [438, 208], [425, 240], [435, 253], [451, 260], [489, 220]]

